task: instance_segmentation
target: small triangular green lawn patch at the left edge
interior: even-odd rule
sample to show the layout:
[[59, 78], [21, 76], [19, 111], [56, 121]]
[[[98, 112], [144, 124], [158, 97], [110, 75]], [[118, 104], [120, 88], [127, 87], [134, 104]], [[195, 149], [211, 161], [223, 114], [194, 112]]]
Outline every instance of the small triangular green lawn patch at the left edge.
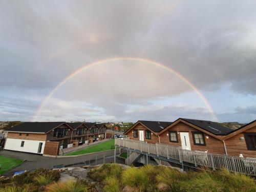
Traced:
[[15, 159], [6, 156], [0, 156], [0, 175], [8, 172], [9, 170], [13, 169], [14, 167], [23, 163], [23, 160]]

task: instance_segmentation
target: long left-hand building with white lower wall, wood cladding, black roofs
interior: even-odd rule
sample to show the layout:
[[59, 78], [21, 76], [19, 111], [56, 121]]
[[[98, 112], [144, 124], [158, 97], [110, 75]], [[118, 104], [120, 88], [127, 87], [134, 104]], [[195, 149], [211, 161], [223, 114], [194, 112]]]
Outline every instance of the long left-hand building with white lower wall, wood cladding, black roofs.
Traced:
[[54, 156], [60, 148], [78, 146], [99, 135], [95, 123], [66, 122], [24, 122], [6, 132], [5, 150]]

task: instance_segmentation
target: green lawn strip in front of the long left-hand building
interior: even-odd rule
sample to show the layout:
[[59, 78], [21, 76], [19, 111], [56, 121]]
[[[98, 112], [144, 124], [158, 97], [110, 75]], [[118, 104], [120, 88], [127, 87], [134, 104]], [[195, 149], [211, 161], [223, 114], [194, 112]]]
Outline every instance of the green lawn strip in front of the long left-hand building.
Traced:
[[112, 150], [113, 148], [111, 147], [113, 147], [114, 145], [115, 145], [115, 139], [111, 139], [99, 144], [82, 148], [81, 150], [77, 150], [75, 152], [67, 153], [65, 155], [70, 156], [70, 155], [81, 155], [81, 154], [88, 154], [88, 153], [94, 153], [94, 152], [103, 152], [107, 150]]

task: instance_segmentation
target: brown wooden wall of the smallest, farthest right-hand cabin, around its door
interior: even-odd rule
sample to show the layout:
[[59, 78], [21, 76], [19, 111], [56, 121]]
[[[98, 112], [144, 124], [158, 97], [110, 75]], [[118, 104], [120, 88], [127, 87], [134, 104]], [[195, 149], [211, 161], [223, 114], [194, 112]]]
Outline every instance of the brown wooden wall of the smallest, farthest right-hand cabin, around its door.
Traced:
[[[138, 130], [138, 137], [134, 137], [133, 136], [133, 130]], [[135, 140], [139, 140], [139, 130], [144, 130], [144, 141], [146, 141], [147, 143], [159, 143], [159, 139], [158, 136], [155, 135], [154, 132], [151, 131], [151, 139], [146, 139], [146, 131], [150, 131], [148, 129], [146, 129], [145, 126], [143, 126], [142, 124], [138, 123], [133, 129], [131, 129], [129, 132], [126, 133], [126, 135], [129, 136], [130, 139], [135, 139]]]

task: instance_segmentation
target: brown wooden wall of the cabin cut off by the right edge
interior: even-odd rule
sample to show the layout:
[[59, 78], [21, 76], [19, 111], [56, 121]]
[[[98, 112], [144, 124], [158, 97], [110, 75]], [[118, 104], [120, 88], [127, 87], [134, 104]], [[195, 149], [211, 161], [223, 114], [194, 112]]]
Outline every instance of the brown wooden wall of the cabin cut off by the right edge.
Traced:
[[245, 138], [244, 133], [256, 133], [256, 126], [253, 126], [250, 129], [225, 140], [227, 155], [239, 156], [240, 154], [242, 154], [244, 157], [256, 158], [256, 151], [248, 150], [246, 141], [240, 140], [240, 137]]

